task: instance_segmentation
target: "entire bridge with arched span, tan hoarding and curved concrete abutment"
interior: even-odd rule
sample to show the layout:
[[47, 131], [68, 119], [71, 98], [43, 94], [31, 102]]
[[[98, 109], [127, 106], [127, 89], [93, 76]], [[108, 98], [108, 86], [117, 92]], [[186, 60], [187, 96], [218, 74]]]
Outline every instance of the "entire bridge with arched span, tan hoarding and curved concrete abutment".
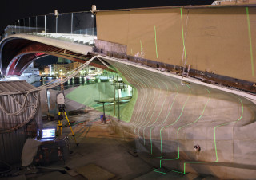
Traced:
[[135, 89], [120, 124], [136, 138], [142, 158], [182, 173], [251, 178], [255, 20], [254, 5], [25, 18], [6, 27], [1, 73], [20, 75], [47, 55], [80, 62], [94, 58], [91, 65], [118, 72]]

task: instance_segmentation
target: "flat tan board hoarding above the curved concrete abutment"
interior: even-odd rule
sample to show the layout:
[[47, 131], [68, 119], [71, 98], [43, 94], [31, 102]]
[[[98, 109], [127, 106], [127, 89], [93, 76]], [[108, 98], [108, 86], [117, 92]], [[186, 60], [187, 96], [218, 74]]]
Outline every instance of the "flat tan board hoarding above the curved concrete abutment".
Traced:
[[[256, 81], [256, 7], [99, 11], [97, 35], [127, 54]], [[183, 38], [184, 37], [184, 46]]]

